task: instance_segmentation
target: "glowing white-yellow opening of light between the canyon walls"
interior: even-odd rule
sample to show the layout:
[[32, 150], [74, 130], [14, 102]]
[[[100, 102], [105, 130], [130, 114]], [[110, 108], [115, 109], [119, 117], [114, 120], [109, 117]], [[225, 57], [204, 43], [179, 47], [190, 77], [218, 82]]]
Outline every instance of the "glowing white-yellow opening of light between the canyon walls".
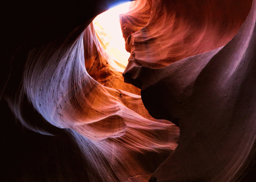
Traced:
[[[109, 56], [118, 63], [126, 67], [130, 53], [125, 50], [125, 40], [122, 36], [122, 30], [119, 22], [119, 14], [129, 11], [131, 2], [113, 7], [98, 15], [93, 20], [94, 29], [102, 46]], [[123, 72], [124, 67], [118, 71]]]

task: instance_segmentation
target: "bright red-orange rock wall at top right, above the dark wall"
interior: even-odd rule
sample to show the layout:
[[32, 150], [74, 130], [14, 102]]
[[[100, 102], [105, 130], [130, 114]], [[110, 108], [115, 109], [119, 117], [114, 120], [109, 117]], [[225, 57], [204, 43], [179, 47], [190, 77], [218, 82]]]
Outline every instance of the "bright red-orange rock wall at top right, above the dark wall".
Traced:
[[[211, 51], [236, 35], [250, 6], [251, 0], [141, 1], [121, 16], [124, 38], [129, 35], [127, 30], [135, 32], [127, 39], [126, 50], [150, 68]], [[141, 14], [146, 16], [144, 22]]]

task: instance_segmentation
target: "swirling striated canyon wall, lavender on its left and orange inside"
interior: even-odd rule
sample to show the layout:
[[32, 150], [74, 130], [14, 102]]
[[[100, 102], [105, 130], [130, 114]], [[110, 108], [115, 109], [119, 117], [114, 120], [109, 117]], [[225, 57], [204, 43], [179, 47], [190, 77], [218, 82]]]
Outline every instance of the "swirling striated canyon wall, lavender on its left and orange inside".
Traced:
[[51, 125], [71, 129], [67, 132], [93, 171], [89, 181], [148, 180], [176, 148], [179, 129], [148, 114], [141, 96], [134, 94], [140, 90], [115, 71], [92, 23], [72, 38], [30, 51], [15, 100], [8, 99], [10, 107], [38, 133], [47, 131], [27, 121], [27, 102]]

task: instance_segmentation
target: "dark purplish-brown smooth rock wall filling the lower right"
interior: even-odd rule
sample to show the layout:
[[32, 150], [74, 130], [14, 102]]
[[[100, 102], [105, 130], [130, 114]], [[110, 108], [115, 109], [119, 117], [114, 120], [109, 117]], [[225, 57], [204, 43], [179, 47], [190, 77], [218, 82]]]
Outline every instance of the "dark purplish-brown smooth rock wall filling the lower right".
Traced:
[[[141, 60], [144, 49], [137, 48], [135, 38], [131, 39], [134, 40], [134, 52], [138, 53], [130, 58], [124, 75], [142, 88], [143, 103], [153, 117], [168, 119], [180, 127], [179, 145], [156, 169], [150, 181], [240, 181], [249, 168], [251, 157], [255, 155], [255, 6], [253, 1], [245, 23], [230, 42], [228, 40], [237, 30], [224, 36], [222, 32], [229, 26], [220, 27], [222, 31], [218, 32], [226, 38], [220, 42], [222, 47], [213, 49], [214, 45], [208, 43], [201, 49], [195, 44], [197, 51], [213, 50], [162, 69], [144, 67], [153, 61], [162, 63], [162, 60], [153, 60], [154, 56], [148, 59], [148, 64]], [[217, 38], [220, 35], [214, 34], [215, 40], [220, 40]], [[136, 37], [137, 33], [131, 36]], [[209, 41], [202, 39], [205, 40]], [[166, 46], [157, 36], [155, 42]], [[145, 44], [151, 46], [148, 40]], [[167, 48], [171, 49], [168, 44]], [[164, 52], [156, 48], [154, 51]]]

